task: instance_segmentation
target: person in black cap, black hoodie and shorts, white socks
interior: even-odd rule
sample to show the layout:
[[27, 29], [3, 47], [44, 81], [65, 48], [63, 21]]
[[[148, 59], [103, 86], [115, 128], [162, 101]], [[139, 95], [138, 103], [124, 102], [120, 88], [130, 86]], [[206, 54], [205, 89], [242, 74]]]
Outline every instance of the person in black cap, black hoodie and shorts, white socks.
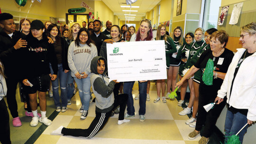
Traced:
[[[27, 36], [27, 47], [21, 49], [23, 56], [23, 84], [28, 93], [30, 107], [34, 117], [30, 126], [37, 126], [38, 119], [46, 126], [52, 124], [52, 121], [46, 117], [46, 91], [50, 86], [50, 81], [57, 77], [58, 65], [54, 45], [49, 44], [47, 36], [44, 34], [45, 26], [40, 20], [31, 22], [30, 34]], [[49, 63], [51, 63], [53, 74], [50, 72]], [[37, 116], [37, 93], [39, 97], [39, 106], [41, 117]]]

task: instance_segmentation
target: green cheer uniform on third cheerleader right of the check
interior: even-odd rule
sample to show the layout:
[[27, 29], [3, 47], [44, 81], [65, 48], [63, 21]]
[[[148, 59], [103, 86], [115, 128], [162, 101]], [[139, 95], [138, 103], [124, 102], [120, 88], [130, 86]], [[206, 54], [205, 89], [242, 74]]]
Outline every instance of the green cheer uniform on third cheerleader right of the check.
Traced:
[[182, 73], [182, 72], [183, 72], [183, 70], [185, 69], [185, 65], [186, 65], [186, 63], [183, 62], [183, 61], [181, 61], [181, 60], [182, 60], [183, 58], [188, 59], [188, 57], [186, 57], [186, 52], [189, 51], [190, 46], [191, 46], [191, 45], [184, 44], [184, 45], [179, 49], [178, 54], [177, 54], [177, 56], [176, 56], [176, 59], [181, 62], [180, 68], [179, 68], [179, 74], [180, 74], [181, 76], [183, 76], [183, 73]]

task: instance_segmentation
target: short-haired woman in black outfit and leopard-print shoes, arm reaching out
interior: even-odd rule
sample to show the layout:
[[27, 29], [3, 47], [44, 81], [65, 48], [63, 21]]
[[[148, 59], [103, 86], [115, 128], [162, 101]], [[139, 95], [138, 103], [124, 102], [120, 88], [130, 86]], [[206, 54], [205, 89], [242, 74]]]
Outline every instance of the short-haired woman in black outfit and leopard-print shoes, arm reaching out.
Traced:
[[[206, 110], [203, 108], [204, 105], [214, 102], [217, 91], [219, 90], [225, 78], [229, 64], [231, 63], [231, 60], [234, 56], [232, 51], [225, 48], [228, 39], [229, 35], [224, 30], [219, 30], [212, 33], [210, 36], [210, 49], [205, 50], [201, 54], [199, 60], [190, 68], [190, 70], [183, 76], [181, 81], [179, 81], [175, 86], [180, 87], [186, 79], [188, 79], [198, 70], [207, 73], [209, 71], [213, 71], [212, 75], [208, 75], [213, 77], [212, 85], [206, 85], [204, 83], [206, 81], [202, 81], [202, 78], [200, 80], [201, 82], [199, 85], [199, 103], [196, 127], [195, 130], [188, 135], [189, 139], [195, 139], [200, 135], [200, 131], [204, 125], [204, 131], [201, 133], [202, 137], [199, 141], [199, 144], [207, 144], [209, 142], [212, 129], [215, 126], [216, 121], [225, 106], [225, 103], [223, 102], [223, 104], [217, 106], [215, 105], [215, 107], [209, 112], [206, 112]], [[212, 66], [205, 69], [209, 59], [213, 61]], [[216, 67], [215, 70], [214, 67]], [[206, 83], [208, 82], [209, 81]]]

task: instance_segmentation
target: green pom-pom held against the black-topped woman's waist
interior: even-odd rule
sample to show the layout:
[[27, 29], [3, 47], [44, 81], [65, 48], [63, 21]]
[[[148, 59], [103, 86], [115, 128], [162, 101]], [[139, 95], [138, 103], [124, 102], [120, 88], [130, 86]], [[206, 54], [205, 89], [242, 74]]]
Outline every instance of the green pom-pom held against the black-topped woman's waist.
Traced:
[[214, 70], [214, 63], [211, 59], [208, 60], [206, 64], [206, 68], [203, 72], [202, 81], [206, 85], [212, 85], [213, 81], [213, 70]]

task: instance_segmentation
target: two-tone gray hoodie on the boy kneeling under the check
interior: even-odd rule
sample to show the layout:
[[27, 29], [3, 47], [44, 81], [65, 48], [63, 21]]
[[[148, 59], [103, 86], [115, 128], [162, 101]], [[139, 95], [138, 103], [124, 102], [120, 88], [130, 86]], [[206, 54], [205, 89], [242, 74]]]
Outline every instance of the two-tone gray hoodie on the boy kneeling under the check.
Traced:
[[[105, 62], [103, 74], [97, 72], [98, 60], [102, 58]], [[101, 56], [96, 56], [91, 60], [91, 86], [95, 95], [96, 111], [107, 113], [114, 107], [114, 86], [115, 82], [110, 81], [106, 76], [108, 72], [107, 61]]]

